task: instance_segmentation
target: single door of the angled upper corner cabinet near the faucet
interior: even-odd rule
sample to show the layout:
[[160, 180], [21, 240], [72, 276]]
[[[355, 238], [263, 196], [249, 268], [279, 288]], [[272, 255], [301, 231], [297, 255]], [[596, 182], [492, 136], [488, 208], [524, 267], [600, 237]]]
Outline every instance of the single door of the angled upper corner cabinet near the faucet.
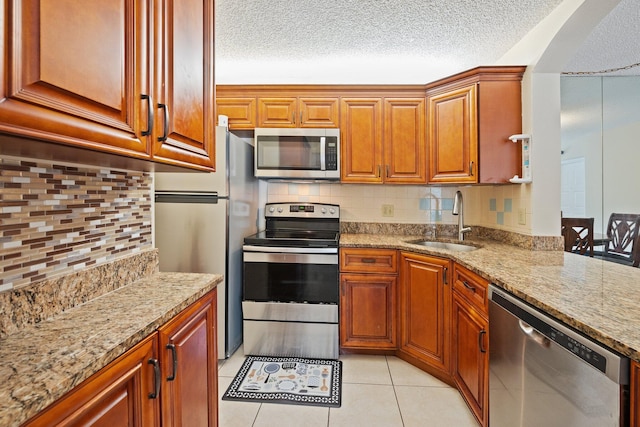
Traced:
[[478, 182], [476, 85], [427, 97], [429, 182]]

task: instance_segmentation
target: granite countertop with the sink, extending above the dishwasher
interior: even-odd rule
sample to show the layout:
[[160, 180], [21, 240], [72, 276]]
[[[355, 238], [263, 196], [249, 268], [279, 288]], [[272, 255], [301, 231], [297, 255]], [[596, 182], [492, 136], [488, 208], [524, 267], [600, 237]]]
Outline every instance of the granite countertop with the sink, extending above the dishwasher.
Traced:
[[640, 362], [640, 268], [563, 251], [495, 241], [453, 252], [412, 244], [423, 236], [341, 234], [341, 247], [389, 248], [443, 256]]

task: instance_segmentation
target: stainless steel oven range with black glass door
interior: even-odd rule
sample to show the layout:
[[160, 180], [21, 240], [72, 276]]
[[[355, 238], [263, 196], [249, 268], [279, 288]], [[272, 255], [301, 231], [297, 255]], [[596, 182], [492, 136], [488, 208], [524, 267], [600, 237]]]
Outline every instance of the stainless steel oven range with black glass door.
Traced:
[[271, 203], [245, 238], [244, 352], [337, 359], [340, 208]]

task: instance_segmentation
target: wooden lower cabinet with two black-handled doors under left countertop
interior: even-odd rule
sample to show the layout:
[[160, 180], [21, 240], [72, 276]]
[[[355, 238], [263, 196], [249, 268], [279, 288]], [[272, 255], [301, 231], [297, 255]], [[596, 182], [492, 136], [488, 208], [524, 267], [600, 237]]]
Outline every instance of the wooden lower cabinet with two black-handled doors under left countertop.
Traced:
[[24, 426], [217, 426], [216, 295], [209, 292]]

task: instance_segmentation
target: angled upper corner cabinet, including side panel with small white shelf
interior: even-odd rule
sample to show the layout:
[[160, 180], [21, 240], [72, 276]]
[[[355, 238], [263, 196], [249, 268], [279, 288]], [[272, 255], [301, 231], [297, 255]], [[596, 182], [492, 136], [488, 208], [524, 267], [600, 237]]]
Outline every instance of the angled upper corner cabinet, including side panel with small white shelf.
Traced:
[[508, 183], [522, 175], [525, 67], [479, 67], [427, 85], [429, 179], [438, 183]]

